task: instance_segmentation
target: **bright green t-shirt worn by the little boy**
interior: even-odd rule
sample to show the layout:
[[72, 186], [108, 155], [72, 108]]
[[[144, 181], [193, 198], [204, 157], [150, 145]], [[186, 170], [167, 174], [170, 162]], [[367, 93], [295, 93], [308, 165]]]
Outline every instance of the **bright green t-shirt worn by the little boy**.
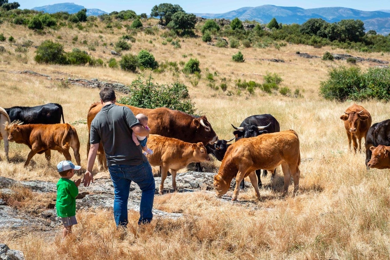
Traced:
[[60, 178], [57, 182], [57, 208], [58, 217], [71, 217], [76, 215], [76, 197], [78, 187], [73, 181]]

